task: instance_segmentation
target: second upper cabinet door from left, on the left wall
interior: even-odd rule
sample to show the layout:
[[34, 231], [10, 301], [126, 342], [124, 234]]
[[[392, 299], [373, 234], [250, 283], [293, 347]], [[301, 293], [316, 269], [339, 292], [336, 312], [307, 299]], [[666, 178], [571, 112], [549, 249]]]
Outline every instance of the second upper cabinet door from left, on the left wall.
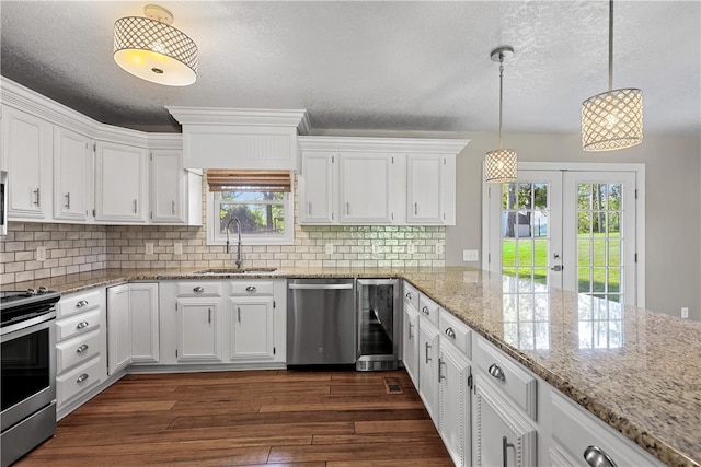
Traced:
[[92, 210], [92, 141], [54, 128], [54, 218], [84, 222]]

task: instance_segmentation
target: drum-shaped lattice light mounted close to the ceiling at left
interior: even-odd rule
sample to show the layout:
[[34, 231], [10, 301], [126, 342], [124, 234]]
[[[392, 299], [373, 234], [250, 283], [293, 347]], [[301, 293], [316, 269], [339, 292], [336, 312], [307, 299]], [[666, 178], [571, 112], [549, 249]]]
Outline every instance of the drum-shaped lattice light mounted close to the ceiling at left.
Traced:
[[186, 86], [197, 79], [197, 46], [171, 26], [173, 15], [156, 4], [148, 17], [127, 16], [114, 23], [114, 61], [135, 77], [168, 86]]

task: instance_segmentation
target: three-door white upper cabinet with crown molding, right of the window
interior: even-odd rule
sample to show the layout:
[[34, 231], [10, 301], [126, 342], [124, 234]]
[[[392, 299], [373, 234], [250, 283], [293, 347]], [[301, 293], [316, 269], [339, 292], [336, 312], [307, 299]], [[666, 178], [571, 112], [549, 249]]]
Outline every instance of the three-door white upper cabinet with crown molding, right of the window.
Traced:
[[455, 225], [468, 140], [299, 137], [301, 224]]

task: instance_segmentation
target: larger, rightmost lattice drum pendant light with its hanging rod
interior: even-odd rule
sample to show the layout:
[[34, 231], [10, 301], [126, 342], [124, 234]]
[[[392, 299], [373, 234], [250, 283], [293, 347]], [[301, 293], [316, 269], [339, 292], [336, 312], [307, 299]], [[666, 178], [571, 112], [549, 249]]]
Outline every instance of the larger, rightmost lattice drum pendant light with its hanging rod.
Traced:
[[643, 141], [643, 92], [613, 89], [613, 0], [609, 0], [609, 90], [582, 103], [582, 149], [612, 151]]

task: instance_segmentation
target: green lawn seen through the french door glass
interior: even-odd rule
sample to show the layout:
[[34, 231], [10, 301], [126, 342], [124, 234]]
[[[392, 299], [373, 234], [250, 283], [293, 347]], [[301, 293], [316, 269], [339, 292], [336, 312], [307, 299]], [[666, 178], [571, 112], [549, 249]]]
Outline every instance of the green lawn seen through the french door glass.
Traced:
[[[620, 291], [620, 269], [614, 266], [620, 265], [621, 242], [619, 234], [611, 234], [608, 241], [609, 249], [609, 288], [606, 290], [606, 249], [607, 242], [605, 234], [595, 233], [579, 234], [577, 240], [577, 254], [579, 255], [579, 292], [594, 293], [618, 293]], [[533, 247], [531, 248], [531, 243]], [[516, 276], [516, 244], [515, 238], [504, 238], [502, 242], [502, 271], [505, 275]], [[548, 277], [548, 243], [545, 240], [519, 238], [518, 241], [518, 265], [521, 268], [521, 277], [530, 276], [533, 270], [533, 280], [539, 283], [547, 283]], [[613, 268], [611, 268], [613, 266]], [[591, 267], [591, 268], [590, 268]], [[589, 270], [593, 280], [589, 282]]]

